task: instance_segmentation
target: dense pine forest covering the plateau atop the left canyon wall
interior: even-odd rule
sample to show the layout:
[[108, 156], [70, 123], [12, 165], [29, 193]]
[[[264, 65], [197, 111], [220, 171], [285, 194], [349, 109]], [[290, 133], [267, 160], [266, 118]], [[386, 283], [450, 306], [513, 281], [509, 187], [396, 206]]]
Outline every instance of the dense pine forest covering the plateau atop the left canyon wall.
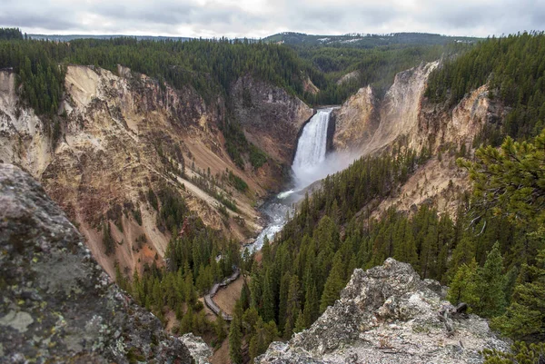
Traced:
[[[62, 84], [63, 74], [53, 70], [58, 69], [57, 64], [91, 64], [113, 72], [117, 64], [122, 64], [175, 88], [192, 85], [208, 101], [218, 93], [226, 93], [243, 74], [254, 74], [302, 96], [302, 80], [310, 72], [310, 66], [287, 47], [227, 39], [154, 42], [119, 37], [81, 39], [69, 44], [0, 42], [0, 68], [13, 67], [21, 75], [25, 98], [33, 107], [38, 106], [38, 113], [56, 111], [59, 94], [56, 90], [43, 91], [50, 85]], [[35, 100], [35, 95], [40, 98]]]

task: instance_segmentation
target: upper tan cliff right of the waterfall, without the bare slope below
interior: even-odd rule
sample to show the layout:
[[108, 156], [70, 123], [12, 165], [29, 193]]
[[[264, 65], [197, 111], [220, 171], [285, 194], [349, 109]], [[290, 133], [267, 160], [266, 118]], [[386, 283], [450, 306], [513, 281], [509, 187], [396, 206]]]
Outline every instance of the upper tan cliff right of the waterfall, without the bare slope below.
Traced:
[[439, 66], [420, 64], [396, 74], [382, 99], [373, 95], [371, 86], [353, 94], [336, 111], [335, 149], [371, 154], [406, 138], [416, 152], [427, 147], [434, 153], [447, 143], [465, 143], [469, 150], [482, 126], [500, 123], [507, 110], [499, 99], [490, 100], [487, 85], [467, 93], [453, 108], [429, 102], [424, 93], [431, 72]]

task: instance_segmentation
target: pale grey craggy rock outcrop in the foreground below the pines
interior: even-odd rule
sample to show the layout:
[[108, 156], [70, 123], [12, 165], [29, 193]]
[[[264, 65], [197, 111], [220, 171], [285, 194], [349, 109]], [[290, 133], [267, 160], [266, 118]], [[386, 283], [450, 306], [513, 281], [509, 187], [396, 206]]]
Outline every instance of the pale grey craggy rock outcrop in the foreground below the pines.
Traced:
[[258, 363], [481, 363], [482, 349], [509, 349], [486, 320], [442, 300], [410, 264], [357, 269], [310, 329], [272, 343]]

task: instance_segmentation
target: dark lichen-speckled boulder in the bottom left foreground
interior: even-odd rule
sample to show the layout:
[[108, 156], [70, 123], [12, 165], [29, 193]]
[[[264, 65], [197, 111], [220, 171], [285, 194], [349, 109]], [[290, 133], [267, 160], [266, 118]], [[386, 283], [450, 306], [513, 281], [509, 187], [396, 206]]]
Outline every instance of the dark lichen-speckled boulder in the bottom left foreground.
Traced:
[[191, 363], [114, 285], [32, 177], [0, 163], [2, 362]]

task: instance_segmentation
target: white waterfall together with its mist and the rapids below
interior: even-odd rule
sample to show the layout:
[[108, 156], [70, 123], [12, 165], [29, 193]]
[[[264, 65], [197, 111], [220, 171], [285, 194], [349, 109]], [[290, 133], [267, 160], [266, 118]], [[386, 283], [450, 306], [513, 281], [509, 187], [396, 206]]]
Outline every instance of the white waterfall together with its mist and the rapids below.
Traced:
[[304, 126], [292, 163], [292, 188], [263, 205], [262, 212], [269, 221], [255, 241], [245, 247], [250, 252], [261, 250], [265, 237], [272, 240], [274, 234], [282, 230], [293, 214], [292, 206], [304, 197], [308, 186], [328, 174], [342, 171], [357, 158], [357, 155], [345, 152], [327, 154], [327, 130], [331, 113], [332, 109], [319, 110]]

